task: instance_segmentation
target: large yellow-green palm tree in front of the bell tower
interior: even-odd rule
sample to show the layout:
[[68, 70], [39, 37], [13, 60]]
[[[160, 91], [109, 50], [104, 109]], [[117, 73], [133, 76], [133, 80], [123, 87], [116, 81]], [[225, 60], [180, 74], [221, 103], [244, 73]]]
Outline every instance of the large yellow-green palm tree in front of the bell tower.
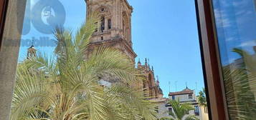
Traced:
[[[89, 18], [75, 36], [56, 30], [51, 58], [38, 54], [19, 64], [11, 120], [156, 119], [155, 106], [134, 85], [142, 79], [127, 56], [104, 47], [85, 56], [97, 21]], [[118, 82], [101, 86], [99, 81], [108, 76]]]

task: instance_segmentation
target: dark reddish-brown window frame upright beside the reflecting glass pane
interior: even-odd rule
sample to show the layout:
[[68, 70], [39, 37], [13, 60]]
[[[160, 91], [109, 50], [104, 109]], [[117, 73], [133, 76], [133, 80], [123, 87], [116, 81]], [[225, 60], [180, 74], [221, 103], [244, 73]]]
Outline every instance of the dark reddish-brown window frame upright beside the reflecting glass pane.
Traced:
[[195, 0], [209, 119], [228, 120], [212, 0]]

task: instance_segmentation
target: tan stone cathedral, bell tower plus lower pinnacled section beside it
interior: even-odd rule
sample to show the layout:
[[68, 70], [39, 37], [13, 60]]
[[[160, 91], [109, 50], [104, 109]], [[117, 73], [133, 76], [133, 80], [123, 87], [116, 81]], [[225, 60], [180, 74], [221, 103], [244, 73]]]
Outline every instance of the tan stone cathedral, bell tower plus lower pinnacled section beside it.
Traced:
[[[98, 46], [113, 47], [122, 51], [135, 64], [137, 54], [133, 51], [131, 39], [133, 7], [127, 0], [85, 0], [85, 2], [87, 5], [86, 16], [90, 16], [94, 12], [100, 16], [99, 21], [95, 23], [98, 28], [95, 29], [91, 38], [89, 51], [93, 51]], [[147, 79], [141, 83], [141, 88], [148, 91], [151, 98], [162, 98], [163, 91], [148, 60], [145, 59], [145, 64], [138, 61], [136, 69]]]

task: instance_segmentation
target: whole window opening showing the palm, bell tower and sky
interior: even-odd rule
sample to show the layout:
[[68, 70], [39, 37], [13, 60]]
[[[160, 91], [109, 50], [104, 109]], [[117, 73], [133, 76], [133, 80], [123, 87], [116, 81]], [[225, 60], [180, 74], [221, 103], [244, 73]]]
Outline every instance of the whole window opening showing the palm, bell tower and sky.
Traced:
[[194, 5], [27, 0], [11, 119], [208, 120]]

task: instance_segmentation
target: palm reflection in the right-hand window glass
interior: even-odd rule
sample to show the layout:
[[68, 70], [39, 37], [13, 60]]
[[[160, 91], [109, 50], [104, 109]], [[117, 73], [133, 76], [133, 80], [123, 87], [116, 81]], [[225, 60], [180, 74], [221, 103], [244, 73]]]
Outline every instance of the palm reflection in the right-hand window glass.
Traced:
[[252, 120], [256, 113], [255, 55], [237, 48], [232, 51], [240, 54], [243, 62], [237, 67], [222, 67], [229, 119]]

